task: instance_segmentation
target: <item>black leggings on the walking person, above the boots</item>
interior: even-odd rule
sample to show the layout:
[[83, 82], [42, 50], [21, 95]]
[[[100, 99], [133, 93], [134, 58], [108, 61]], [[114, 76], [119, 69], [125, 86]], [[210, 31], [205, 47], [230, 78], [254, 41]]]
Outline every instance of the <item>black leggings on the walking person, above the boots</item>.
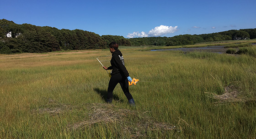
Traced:
[[113, 98], [113, 90], [117, 86], [117, 84], [121, 85], [121, 88], [123, 89], [123, 93], [127, 97], [128, 100], [132, 99], [133, 96], [129, 92], [129, 84], [128, 84], [128, 79], [123, 77], [120, 73], [114, 74], [111, 76], [107, 88], [107, 99], [112, 99]]

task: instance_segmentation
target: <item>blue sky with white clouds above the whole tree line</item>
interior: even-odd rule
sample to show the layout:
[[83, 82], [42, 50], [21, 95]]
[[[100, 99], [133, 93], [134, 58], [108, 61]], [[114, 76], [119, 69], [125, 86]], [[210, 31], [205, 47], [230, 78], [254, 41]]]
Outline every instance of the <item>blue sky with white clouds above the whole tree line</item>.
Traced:
[[0, 19], [125, 38], [256, 28], [256, 0], [2, 0]]

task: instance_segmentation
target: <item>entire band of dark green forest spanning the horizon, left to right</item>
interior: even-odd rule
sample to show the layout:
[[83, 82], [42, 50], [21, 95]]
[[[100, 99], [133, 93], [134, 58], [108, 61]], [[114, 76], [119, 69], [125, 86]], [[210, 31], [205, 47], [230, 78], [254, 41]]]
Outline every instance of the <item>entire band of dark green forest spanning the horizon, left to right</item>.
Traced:
[[[11, 32], [10, 37], [7, 34]], [[15, 24], [0, 20], [0, 54], [43, 53], [59, 50], [106, 49], [116, 41], [123, 46], [142, 45], [193, 45], [198, 42], [219, 40], [255, 39], [256, 29], [229, 30], [203, 35], [178, 35], [174, 37], [144, 37], [127, 39], [117, 35], [97, 35], [84, 30], [59, 30], [49, 26]]]

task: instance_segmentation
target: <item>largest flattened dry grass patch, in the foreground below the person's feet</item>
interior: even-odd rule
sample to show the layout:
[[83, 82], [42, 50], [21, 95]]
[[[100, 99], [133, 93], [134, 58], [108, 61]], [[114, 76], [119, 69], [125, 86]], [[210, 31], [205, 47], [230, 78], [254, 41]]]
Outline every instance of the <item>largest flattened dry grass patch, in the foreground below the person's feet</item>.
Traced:
[[88, 104], [88, 108], [89, 119], [70, 124], [68, 129], [84, 129], [96, 123], [113, 123], [120, 125], [121, 131], [130, 134], [131, 137], [145, 136], [148, 130], [164, 132], [176, 129], [172, 124], [160, 123], [145, 114], [138, 114], [135, 110], [118, 109], [112, 104]]

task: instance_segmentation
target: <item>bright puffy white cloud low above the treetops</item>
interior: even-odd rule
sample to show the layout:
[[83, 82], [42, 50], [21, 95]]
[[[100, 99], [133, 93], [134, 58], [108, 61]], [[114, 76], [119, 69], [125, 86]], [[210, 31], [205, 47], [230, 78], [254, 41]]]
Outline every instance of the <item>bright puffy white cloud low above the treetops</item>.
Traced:
[[141, 33], [139, 32], [133, 32], [133, 33], [128, 33], [127, 37], [128, 38], [133, 38], [135, 36], [137, 37], [152, 37], [152, 36], [161, 36], [169, 33], [174, 33], [177, 31], [178, 26], [172, 27], [172, 26], [166, 26], [166, 25], [160, 25], [155, 27], [152, 30], [149, 30], [149, 33], [145, 33], [142, 31]]

